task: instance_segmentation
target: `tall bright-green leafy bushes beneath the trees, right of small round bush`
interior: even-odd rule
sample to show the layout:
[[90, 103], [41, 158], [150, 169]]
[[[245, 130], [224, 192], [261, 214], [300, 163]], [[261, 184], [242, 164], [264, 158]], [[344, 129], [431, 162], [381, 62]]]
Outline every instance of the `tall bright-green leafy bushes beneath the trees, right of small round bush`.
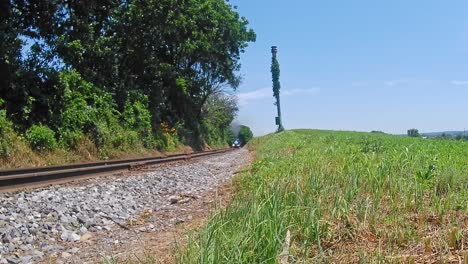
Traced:
[[64, 131], [60, 133], [64, 146], [76, 148], [86, 135], [101, 156], [107, 157], [114, 150], [141, 146], [145, 138], [151, 137], [151, 114], [146, 96], [130, 93], [121, 114], [110, 93], [87, 82], [79, 73], [62, 72], [60, 78], [65, 101], [59, 130]]

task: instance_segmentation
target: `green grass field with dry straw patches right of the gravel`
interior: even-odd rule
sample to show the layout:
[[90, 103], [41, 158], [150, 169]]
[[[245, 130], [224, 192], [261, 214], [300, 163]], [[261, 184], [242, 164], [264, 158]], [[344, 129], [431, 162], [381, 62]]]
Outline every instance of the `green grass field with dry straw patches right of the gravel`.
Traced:
[[236, 198], [191, 236], [178, 262], [468, 257], [467, 142], [292, 130], [249, 145], [255, 161], [237, 177]]

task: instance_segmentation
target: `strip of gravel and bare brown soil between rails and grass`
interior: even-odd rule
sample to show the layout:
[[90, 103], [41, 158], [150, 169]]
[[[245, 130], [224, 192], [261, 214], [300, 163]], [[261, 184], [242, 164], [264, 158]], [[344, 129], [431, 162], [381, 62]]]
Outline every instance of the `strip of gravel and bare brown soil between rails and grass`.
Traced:
[[242, 149], [80, 185], [0, 194], [0, 263], [131, 256], [142, 234], [190, 221], [184, 206], [203, 200], [248, 160]]

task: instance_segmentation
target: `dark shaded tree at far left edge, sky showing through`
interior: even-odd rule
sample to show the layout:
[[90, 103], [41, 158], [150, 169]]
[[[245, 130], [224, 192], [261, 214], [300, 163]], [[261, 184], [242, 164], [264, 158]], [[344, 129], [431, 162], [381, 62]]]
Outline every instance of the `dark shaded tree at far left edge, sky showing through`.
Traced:
[[50, 124], [51, 113], [60, 105], [49, 45], [56, 4], [2, 1], [0, 10], [0, 98], [21, 130], [33, 123]]

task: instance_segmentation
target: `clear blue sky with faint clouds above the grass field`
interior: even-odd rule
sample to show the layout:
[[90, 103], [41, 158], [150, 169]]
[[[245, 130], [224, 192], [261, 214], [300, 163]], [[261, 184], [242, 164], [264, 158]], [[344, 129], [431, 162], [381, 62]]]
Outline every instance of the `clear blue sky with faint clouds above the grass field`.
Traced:
[[287, 129], [468, 129], [468, 1], [232, 0], [257, 41], [238, 121], [275, 130], [270, 46]]

